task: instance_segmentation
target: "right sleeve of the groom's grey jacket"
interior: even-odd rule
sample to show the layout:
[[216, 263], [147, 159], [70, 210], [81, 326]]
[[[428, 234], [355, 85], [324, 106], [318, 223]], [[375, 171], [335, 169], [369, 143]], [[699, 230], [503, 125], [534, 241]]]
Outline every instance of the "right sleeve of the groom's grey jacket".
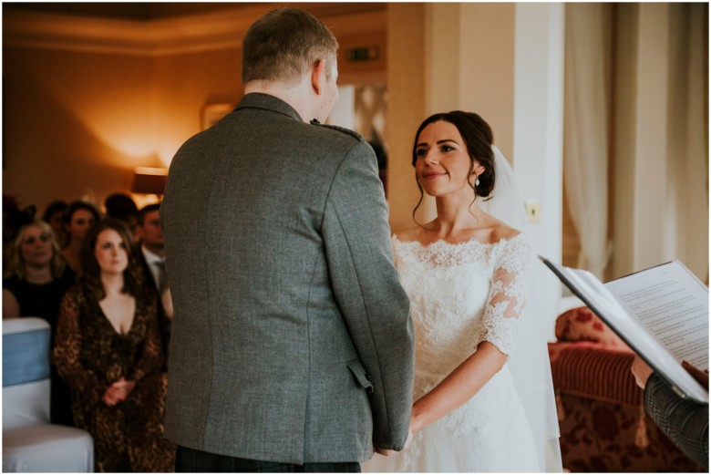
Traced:
[[335, 300], [373, 383], [373, 443], [400, 450], [412, 408], [414, 336], [375, 153], [365, 141], [348, 151], [335, 174], [322, 233]]

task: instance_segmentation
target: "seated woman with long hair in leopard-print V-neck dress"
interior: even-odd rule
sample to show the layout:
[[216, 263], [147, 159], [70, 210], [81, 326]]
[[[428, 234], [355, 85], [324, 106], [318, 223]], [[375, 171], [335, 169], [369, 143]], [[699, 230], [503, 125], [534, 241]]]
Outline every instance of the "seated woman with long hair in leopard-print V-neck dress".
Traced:
[[88, 232], [82, 267], [62, 301], [53, 351], [77, 427], [94, 438], [97, 471], [171, 471], [157, 299], [144, 290], [123, 222], [109, 218]]

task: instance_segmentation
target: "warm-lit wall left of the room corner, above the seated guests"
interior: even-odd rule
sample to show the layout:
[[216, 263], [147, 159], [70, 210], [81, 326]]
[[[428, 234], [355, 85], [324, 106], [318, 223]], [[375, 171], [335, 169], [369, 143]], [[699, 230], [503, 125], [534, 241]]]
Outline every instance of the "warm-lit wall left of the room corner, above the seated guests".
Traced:
[[146, 58], [4, 47], [3, 64], [4, 193], [42, 212], [156, 164]]

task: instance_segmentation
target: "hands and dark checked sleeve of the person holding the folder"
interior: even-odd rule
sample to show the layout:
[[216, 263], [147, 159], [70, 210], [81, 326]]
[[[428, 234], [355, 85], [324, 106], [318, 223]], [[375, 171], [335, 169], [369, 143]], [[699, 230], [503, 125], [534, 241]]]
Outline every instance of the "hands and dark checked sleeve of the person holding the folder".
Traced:
[[[683, 362], [688, 373], [708, 390], [708, 373]], [[644, 389], [644, 411], [686, 456], [708, 470], [708, 404], [682, 398], [639, 356], [632, 374]]]

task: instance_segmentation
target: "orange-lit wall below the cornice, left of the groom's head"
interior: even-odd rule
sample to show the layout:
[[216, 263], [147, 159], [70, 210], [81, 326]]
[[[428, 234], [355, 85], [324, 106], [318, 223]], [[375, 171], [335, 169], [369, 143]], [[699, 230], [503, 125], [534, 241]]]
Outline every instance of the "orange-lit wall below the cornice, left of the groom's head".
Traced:
[[39, 212], [55, 199], [100, 204], [129, 191], [135, 167], [167, 166], [200, 130], [205, 104], [241, 95], [236, 49], [160, 58], [4, 53], [3, 192]]

